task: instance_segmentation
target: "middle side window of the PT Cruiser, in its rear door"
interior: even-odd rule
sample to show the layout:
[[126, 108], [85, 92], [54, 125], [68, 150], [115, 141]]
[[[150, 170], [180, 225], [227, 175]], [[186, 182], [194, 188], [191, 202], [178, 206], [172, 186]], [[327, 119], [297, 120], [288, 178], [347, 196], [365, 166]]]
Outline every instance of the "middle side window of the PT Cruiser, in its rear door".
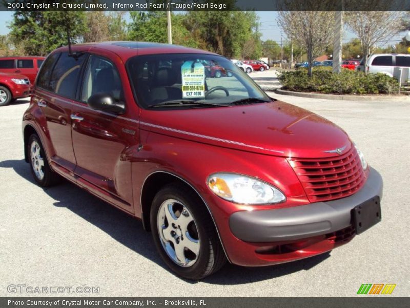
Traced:
[[79, 57], [73, 57], [69, 56], [67, 52], [61, 53], [51, 73], [50, 91], [74, 99], [77, 90], [78, 76], [84, 59], [84, 54]]

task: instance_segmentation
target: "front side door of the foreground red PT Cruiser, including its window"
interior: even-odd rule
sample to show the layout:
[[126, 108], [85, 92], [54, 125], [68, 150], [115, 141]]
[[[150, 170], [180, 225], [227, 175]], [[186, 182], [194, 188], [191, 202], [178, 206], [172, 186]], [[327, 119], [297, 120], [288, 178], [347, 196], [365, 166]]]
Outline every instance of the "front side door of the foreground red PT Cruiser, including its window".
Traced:
[[[126, 75], [125, 71], [123, 74]], [[116, 101], [125, 102], [122, 85], [111, 60], [90, 55], [79, 99], [72, 109], [75, 175], [79, 185], [133, 213], [131, 163], [122, 158], [127, 148], [137, 144], [137, 121], [127, 120], [127, 114], [119, 116], [87, 105], [88, 99], [97, 93], [110, 94]]]

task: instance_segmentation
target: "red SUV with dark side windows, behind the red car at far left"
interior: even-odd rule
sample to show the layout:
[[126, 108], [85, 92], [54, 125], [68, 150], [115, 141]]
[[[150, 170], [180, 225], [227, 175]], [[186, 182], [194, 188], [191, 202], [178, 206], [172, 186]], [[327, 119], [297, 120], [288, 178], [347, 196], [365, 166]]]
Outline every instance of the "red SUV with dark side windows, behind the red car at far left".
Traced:
[[44, 56], [0, 57], [0, 72], [25, 75], [30, 83], [34, 84], [37, 72], [45, 59]]

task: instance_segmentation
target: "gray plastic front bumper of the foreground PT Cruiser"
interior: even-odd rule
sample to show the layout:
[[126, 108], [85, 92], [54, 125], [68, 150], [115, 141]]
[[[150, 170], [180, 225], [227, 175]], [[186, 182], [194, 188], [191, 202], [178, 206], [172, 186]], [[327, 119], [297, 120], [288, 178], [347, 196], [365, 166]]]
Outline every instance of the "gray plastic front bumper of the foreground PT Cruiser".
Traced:
[[326, 202], [269, 210], [239, 211], [231, 215], [232, 233], [247, 242], [298, 240], [332, 233], [352, 224], [352, 209], [375, 196], [382, 198], [383, 181], [375, 169], [356, 194]]

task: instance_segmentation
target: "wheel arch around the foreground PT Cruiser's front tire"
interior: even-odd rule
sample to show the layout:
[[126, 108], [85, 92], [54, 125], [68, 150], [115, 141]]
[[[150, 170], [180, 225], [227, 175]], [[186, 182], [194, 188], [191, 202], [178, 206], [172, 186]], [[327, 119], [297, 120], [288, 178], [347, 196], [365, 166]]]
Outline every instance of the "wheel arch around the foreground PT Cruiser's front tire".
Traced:
[[223, 249], [223, 253], [227, 257], [228, 261], [231, 262], [225, 250], [225, 247], [222, 242], [222, 238], [219, 234], [218, 227], [216, 225], [214, 217], [212, 216], [211, 209], [209, 208], [207, 202], [202, 198], [202, 196], [199, 194], [199, 192], [194, 188], [194, 186], [191, 183], [189, 183], [187, 180], [169, 171], [163, 171], [163, 170], [154, 171], [150, 175], [147, 176], [144, 183], [142, 184], [141, 196], [140, 196], [140, 207], [141, 207], [141, 220], [142, 220], [142, 225], [144, 226], [144, 229], [147, 231], [151, 230], [150, 210], [151, 210], [151, 204], [155, 197], [155, 194], [158, 192], [158, 190], [161, 187], [169, 183], [175, 183], [175, 182], [188, 187], [189, 189], [194, 191], [196, 195], [198, 195], [203, 205], [207, 208], [208, 213], [212, 219], [216, 233], [218, 234], [219, 242]]

